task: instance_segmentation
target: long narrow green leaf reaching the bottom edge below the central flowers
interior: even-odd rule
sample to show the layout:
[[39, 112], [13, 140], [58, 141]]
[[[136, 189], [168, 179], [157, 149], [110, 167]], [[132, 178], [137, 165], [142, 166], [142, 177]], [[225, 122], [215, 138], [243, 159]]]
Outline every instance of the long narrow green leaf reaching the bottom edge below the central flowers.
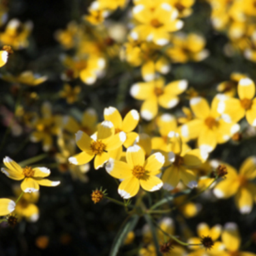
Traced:
[[109, 253], [109, 256], [117, 255], [119, 248], [120, 246], [122, 246], [122, 243], [124, 242], [124, 239], [126, 238], [127, 234], [134, 229], [138, 221], [139, 221], [139, 215], [137, 214], [134, 214], [126, 218], [126, 220], [120, 227], [119, 231], [117, 232], [117, 235], [115, 236], [115, 239], [111, 246], [111, 251]]

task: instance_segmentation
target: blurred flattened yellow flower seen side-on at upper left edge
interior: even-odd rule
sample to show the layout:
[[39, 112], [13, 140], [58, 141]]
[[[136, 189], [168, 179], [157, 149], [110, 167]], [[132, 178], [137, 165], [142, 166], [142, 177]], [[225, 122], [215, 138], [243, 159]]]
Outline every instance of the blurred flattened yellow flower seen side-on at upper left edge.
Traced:
[[22, 83], [24, 85], [36, 86], [40, 83], [44, 83], [48, 77], [40, 76], [39, 74], [33, 74], [31, 70], [23, 71], [18, 76], [12, 74], [4, 74], [1, 79], [10, 83]]

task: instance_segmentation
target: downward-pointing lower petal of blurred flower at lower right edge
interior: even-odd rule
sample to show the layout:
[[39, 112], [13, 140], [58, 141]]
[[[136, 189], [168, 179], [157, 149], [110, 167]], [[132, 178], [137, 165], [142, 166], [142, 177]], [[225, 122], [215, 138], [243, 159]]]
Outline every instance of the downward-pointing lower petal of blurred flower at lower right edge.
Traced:
[[245, 187], [238, 189], [235, 202], [241, 214], [249, 214], [253, 209], [253, 195], [251, 191]]

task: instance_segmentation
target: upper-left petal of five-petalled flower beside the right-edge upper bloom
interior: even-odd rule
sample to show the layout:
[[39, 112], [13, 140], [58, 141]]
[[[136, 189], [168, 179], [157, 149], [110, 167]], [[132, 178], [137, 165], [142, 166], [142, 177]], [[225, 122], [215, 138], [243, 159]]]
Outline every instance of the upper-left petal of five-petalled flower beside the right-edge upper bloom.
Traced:
[[192, 109], [193, 113], [196, 117], [200, 119], [205, 119], [210, 115], [210, 106], [202, 97], [195, 97], [190, 99], [190, 108]]

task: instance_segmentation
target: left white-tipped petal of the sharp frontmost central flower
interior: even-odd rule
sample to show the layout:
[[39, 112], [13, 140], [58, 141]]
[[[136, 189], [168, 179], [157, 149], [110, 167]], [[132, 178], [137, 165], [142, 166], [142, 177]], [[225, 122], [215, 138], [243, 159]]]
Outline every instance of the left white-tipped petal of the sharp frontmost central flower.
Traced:
[[132, 169], [127, 162], [110, 158], [105, 169], [111, 176], [117, 179], [127, 179], [128, 177], [132, 177]]

